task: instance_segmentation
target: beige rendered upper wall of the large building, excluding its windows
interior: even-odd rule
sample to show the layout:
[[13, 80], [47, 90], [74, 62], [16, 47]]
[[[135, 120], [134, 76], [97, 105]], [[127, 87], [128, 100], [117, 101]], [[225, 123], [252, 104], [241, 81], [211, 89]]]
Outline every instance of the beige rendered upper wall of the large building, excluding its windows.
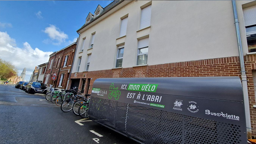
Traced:
[[[117, 46], [123, 43], [122, 67], [135, 66], [138, 39], [145, 36], [149, 36], [148, 65], [238, 56], [231, 1], [152, 1], [151, 27], [138, 31], [140, 7], [150, 2], [132, 1], [100, 22], [95, 21], [85, 31], [80, 30], [72, 73], [77, 72], [79, 56], [82, 56], [79, 72], [85, 71], [89, 53], [92, 53], [89, 71], [114, 68]], [[237, 1], [244, 55], [248, 50], [242, 4], [248, 2]], [[120, 18], [127, 14], [126, 36], [117, 39]], [[87, 50], [94, 32], [93, 48]], [[83, 38], [85, 48], [80, 52]]]

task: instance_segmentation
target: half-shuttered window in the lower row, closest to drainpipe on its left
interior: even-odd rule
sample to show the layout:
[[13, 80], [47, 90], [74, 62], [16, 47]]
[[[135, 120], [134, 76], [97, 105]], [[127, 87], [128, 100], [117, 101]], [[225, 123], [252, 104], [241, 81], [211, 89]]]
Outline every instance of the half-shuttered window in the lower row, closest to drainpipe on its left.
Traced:
[[145, 38], [138, 41], [137, 65], [147, 64], [148, 40], [149, 38]]

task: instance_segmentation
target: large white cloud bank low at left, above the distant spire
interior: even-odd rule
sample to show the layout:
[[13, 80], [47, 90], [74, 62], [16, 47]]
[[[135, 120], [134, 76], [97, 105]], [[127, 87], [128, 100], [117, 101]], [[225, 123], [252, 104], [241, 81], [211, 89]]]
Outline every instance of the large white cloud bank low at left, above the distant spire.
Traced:
[[37, 65], [48, 62], [49, 55], [53, 52], [44, 52], [39, 48], [31, 48], [28, 42], [23, 43], [23, 48], [16, 47], [15, 39], [7, 32], [0, 31], [0, 58], [9, 62], [19, 70], [19, 75], [26, 67], [25, 79], [29, 81], [32, 72]]

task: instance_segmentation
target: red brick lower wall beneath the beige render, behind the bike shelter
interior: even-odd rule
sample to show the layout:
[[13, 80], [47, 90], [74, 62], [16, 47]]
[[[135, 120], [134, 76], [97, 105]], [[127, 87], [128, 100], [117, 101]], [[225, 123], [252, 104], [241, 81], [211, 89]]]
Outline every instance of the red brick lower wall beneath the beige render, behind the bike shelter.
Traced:
[[[252, 79], [252, 71], [256, 68], [256, 54], [244, 56], [244, 60], [248, 80], [248, 94], [251, 111], [250, 113], [252, 122], [252, 135], [256, 136], [256, 109], [253, 108], [253, 105], [255, 104], [255, 91]], [[71, 79], [92, 78], [90, 82], [90, 89], [88, 92], [90, 94], [92, 91], [93, 82], [97, 78], [189, 76], [240, 76], [241, 78], [240, 71], [241, 69], [239, 57], [234, 56], [132, 68], [80, 72], [77, 73], [77, 76], [75, 76], [75, 73], [71, 73]], [[83, 74], [85, 74], [85, 76], [83, 76]]]

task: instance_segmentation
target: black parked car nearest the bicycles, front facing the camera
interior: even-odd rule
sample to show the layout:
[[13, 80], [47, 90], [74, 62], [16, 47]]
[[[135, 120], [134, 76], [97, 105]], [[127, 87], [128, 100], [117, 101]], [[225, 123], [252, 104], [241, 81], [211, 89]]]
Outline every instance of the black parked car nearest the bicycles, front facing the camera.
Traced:
[[47, 87], [44, 83], [41, 82], [30, 82], [28, 85], [26, 85], [25, 92], [28, 92], [28, 94], [46, 94], [47, 93]]

